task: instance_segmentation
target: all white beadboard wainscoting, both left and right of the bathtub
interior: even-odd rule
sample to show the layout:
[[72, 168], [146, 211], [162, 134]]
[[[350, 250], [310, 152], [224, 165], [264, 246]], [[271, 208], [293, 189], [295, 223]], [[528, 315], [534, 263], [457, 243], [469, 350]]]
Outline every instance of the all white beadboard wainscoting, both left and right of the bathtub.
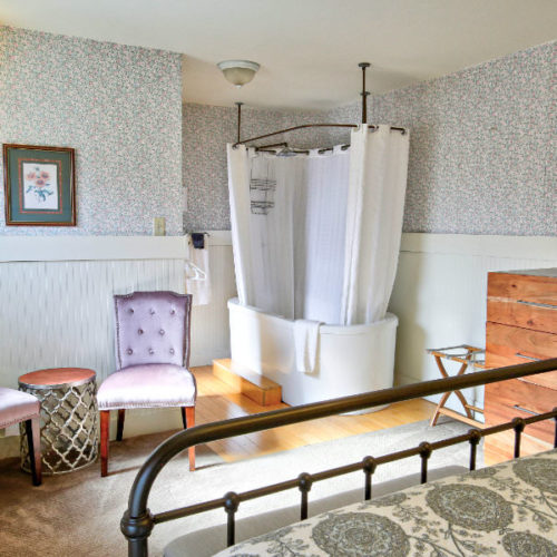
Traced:
[[[235, 295], [229, 232], [211, 232], [211, 304], [192, 315], [192, 365], [229, 355]], [[0, 237], [0, 385], [50, 367], [115, 369], [114, 294], [185, 291], [185, 237]], [[403, 234], [390, 311], [399, 384], [437, 379], [427, 348], [485, 345], [488, 271], [557, 266], [557, 237]], [[455, 397], [451, 397], [451, 399]], [[437, 400], [437, 398], [432, 398]], [[450, 399], [449, 399], [450, 400]], [[481, 404], [481, 392], [471, 393]], [[453, 408], [458, 409], [457, 405]], [[126, 436], [178, 428], [176, 410], [136, 410]], [[0, 458], [17, 453], [0, 442]]]

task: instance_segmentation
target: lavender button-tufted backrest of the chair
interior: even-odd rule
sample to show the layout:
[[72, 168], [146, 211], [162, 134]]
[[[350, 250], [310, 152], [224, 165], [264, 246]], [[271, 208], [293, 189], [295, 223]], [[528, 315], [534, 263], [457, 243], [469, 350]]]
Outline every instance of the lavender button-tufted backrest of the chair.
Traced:
[[134, 292], [114, 296], [118, 369], [145, 363], [189, 365], [192, 294]]

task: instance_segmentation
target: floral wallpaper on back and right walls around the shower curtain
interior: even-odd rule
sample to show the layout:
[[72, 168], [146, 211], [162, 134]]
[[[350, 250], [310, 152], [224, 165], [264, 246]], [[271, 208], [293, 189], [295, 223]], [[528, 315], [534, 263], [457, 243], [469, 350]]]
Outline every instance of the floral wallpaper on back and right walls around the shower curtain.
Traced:
[[[555, 52], [556, 42], [541, 45], [369, 100], [368, 121], [411, 130], [404, 232], [557, 234]], [[243, 115], [246, 138], [306, 121], [359, 123], [361, 105]], [[184, 105], [186, 229], [229, 228], [225, 144], [235, 121], [234, 107]], [[315, 147], [349, 137], [306, 130], [289, 140]]]

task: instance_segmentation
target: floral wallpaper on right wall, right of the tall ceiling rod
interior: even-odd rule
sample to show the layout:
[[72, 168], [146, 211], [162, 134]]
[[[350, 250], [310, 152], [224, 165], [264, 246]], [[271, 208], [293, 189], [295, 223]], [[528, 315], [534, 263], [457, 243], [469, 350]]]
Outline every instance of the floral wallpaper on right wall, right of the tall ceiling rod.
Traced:
[[405, 232], [557, 235], [556, 45], [373, 99], [411, 129]]

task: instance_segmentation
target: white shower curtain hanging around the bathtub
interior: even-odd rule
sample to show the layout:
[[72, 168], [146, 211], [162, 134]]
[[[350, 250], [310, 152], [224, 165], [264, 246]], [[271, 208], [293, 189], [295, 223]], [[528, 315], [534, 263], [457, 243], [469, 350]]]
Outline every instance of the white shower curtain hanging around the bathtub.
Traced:
[[227, 147], [240, 302], [329, 324], [384, 316], [400, 245], [408, 134], [352, 133], [343, 152]]

